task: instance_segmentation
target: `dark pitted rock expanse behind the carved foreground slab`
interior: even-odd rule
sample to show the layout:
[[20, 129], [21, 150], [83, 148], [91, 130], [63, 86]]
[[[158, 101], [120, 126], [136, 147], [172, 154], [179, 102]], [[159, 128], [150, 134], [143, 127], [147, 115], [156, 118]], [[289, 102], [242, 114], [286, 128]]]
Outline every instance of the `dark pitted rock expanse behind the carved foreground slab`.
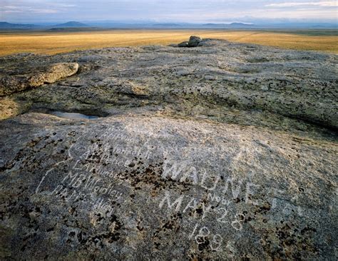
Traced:
[[[32, 103], [33, 110], [105, 116], [156, 111], [250, 125], [260, 121], [277, 128], [296, 118], [337, 128], [336, 55], [203, 43], [206, 46], [199, 48], [144, 46], [5, 56], [0, 58], [0, 74], [29, 74], [36, 66], [53, 63], [79, 64], [76, 75], [10, 97], [19, 104]], [[131, 86], [146, 94], [133, 93]]]

